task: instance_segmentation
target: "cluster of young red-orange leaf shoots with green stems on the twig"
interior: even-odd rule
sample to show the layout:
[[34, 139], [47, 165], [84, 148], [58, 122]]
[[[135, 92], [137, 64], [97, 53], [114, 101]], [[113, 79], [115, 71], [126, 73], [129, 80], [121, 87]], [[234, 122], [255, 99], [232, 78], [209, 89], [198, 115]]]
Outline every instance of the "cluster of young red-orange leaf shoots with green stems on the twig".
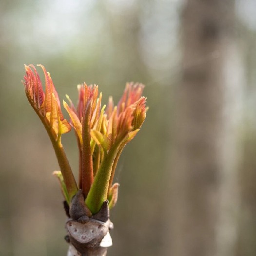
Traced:
[[[54, 174], [59, 178], [67, 203], [80, 188], [92, 214], [100, 210], [106, 199], [112, 208], [118, 196], [118, 183], [113, 184], [118, 158], [124, 146], [136, 136], [146, 117], [146, 98], [141, 96], [144, 85], [127, 83], [117, 106], [109, 97], [107, 106], [102, 107], [102, 94], [98, 92], [97, 85], [79, 85], [77, 107], [68, 96], [69, 104], [63, 101], [70, 116], [68, 122], [61, 112], [59, 96], [50, 74], [42, 65], [39, 66], [44, 72], [45, 93], [33, 65], [25, 65], [23, 84], [26, 96], [53, 144], [60, 167], [60, 171]], [[61, 144], [61, 135], [72, 127], [79, 147], [78, 185]]]

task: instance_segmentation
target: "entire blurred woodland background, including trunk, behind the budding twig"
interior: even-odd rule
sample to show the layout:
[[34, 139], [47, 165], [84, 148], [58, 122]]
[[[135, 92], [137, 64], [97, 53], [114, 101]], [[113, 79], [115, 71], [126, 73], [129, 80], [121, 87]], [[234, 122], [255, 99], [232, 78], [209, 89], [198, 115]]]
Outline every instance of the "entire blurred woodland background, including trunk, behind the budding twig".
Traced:
[[[83, 81], [104, 103], [127, 81], [146, 85], [146, 121], [116, 173], [109, 256], [255, 256], [255, 45], [254, 0], [1, 0], [0, 256], [68, 247], [24, 63], [43, 64], [73, 102]], [[62, 142], [77, 174], [74, 133]]]

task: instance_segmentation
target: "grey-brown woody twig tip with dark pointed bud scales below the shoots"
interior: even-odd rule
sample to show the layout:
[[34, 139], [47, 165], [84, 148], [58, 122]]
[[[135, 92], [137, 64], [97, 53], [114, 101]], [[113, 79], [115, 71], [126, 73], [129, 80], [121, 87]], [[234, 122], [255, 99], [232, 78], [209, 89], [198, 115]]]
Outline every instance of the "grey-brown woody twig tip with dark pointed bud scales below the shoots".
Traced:
[[109, 230], [113, 224], [109, 219], [108, 201], [104, 201], [100, 211], [92, 215], [84, 203], [82, 190], [79, 189], [71, 201], [66, 230], [69, 242], [67, 256], [105, 256], [107, 247], [112, 246]]

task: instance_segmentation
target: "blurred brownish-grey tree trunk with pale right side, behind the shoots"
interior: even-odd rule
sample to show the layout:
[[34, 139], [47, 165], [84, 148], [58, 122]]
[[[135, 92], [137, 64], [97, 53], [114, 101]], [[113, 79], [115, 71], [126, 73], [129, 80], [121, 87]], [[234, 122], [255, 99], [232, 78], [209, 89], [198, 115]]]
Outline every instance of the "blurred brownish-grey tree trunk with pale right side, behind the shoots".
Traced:
[[187, 0], [165, 255], [233, 256], [242, 72], [235, 0]]

